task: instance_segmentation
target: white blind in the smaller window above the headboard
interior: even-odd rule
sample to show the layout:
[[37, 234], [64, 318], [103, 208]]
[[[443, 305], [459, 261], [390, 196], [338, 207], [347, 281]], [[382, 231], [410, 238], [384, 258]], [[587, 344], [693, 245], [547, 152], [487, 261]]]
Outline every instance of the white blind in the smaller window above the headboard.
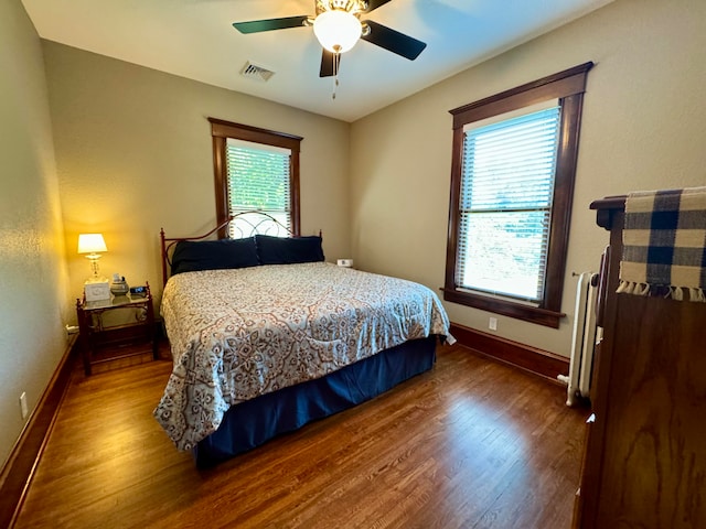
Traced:
[[290, 151], [228, 138], [226, 162], [231, 215], [257, 209], [291, 231]]

